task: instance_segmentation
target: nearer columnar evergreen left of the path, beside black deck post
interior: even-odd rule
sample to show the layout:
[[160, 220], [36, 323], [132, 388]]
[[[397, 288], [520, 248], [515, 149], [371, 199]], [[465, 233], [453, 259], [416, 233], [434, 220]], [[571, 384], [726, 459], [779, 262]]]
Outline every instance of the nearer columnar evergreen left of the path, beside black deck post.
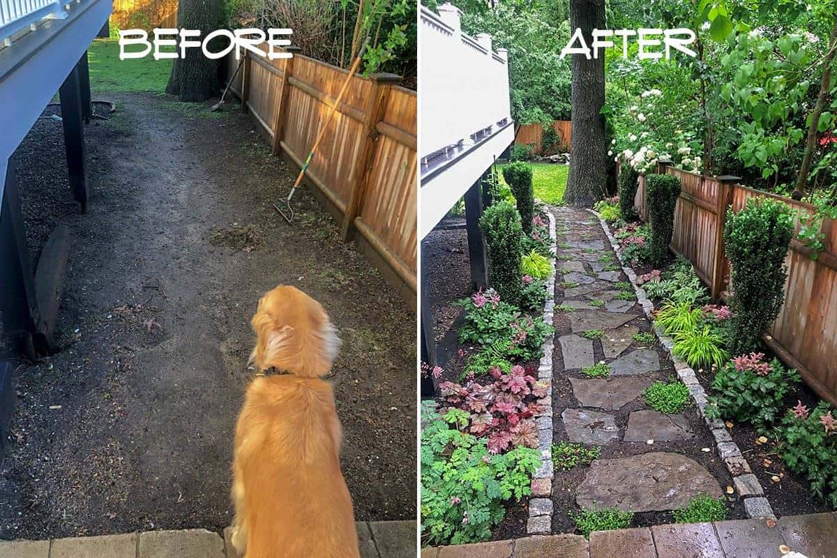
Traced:
[[485, 209], [480, 218], [480, 228], [487, 241], [491, 286], [500, 293], [503, 300], [516, 305], [520, 299], [523, 279], [521, 217], [511, 203], [496, 202]]

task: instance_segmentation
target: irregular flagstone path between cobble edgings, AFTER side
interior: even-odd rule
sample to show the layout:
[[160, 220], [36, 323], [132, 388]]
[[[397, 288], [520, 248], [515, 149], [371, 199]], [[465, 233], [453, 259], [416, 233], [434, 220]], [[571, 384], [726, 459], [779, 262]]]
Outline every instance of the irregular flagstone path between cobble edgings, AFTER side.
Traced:
[[[652, 325], [598, 219], [571, 207], [556, 207], [553, 215], [558, 233], [554, 442], [602, 448], [581, 474], [578, 468], [557, 473], [555, 509], [665, 512], [697, 495], [724, 494], [721, 487], [732, 480], [720, 459], [707, 455], [715, 446], [695, 407], [664, 414], [644, 402], [646, 387], [676, 377], [674, 366], [656, 341], [634, 340], [639, 332], [652, 332]], [[597, 363], [608, 364], [608, 375], [586, 377], [583, 369]], [[559, 513], [552, 532], [571, 530]]]

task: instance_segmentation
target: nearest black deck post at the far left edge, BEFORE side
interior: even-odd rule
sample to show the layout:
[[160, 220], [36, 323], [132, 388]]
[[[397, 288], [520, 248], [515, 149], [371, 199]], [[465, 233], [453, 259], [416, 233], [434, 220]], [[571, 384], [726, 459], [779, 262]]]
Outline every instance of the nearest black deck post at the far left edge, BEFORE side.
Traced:
[[0, 284], [3, 285], [0, 289], [3, 329], [8, 335], [23, 335], [23, 350], [31, 358], [34, 356], [32, 335], [39, 313], [13, 158], [6, 167], [0, 205]]

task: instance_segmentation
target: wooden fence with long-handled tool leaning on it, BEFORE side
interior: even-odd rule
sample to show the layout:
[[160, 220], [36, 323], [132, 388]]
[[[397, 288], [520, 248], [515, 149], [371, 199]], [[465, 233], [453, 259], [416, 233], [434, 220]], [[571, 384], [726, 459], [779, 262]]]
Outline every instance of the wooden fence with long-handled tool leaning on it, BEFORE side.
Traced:
[[[238, 64], [231, 54], [228, 75]], [[248, 53], [230, 89], [273, 153], [302, 166], [346, 75], [306, 56], [270, 60]], [[414, 306], [416, 94], [398, 87], [400, 80], [393, 74], [352, 77], [306, 177], [341, 223], [343, 238], [357, 240]], [[277, 199], [290, 186], [277, 183]]]

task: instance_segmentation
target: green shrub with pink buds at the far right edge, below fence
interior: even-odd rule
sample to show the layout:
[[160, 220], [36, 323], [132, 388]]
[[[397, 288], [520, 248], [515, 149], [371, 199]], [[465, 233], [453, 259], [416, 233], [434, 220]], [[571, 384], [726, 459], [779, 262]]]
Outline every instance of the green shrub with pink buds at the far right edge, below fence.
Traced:
[[811, 493], [837, 507], [837, 418], [826, 402], [809, 411], [802, 402], [788, 410], [778, 428], [779, 455], [806, 479]]

